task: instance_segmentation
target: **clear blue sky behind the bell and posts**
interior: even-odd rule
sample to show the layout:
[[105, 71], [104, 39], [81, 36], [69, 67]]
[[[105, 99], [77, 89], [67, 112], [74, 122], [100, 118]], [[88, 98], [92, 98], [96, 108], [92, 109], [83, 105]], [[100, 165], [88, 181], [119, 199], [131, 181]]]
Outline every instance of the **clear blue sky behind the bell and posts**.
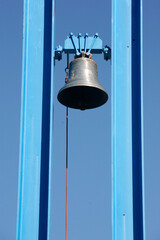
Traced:
[[[144, 0], [144, 156], [146, 239], [160, 240], [160, 1]], [[0, 239], [16, 234], [23, 1], [0, 0]], [[99, 33], [111, 45], [111, 0], [58, 0], [56, 45], [69, 32]], [[111, 239], [111, 66], [94, 56], [109, 101], [69, 110], [68, 239]], [[51, 239], [65, 235], [65, 107], [56, 99], [66, 58], [56, 62]]]

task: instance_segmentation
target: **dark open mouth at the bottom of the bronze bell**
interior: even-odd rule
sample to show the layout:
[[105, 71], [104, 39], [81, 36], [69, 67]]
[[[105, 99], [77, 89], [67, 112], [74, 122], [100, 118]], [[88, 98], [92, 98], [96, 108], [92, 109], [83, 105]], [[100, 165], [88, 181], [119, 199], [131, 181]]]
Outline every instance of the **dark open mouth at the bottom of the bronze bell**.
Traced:
[[58, 93], [58, 101], [66, 107], [85, 110], [100, 107], [108, 100], [105, 89], [93, 86], [64, 86]]

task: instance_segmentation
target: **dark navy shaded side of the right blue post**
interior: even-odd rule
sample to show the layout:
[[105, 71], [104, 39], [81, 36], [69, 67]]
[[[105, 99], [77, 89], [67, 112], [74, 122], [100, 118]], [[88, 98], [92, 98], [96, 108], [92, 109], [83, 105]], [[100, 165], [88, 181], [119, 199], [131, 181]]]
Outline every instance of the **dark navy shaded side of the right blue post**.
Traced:
[[144, 239], [141, 0], [132, 0], [132, 151], [134, 239]]

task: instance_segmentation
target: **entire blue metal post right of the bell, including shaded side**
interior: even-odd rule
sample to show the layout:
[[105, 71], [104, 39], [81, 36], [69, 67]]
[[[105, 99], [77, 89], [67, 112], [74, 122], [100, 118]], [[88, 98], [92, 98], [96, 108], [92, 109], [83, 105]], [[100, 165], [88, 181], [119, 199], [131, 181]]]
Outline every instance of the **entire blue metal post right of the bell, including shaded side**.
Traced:
[[145, 239], [142, 1], [112, 1], [112, 236]]

